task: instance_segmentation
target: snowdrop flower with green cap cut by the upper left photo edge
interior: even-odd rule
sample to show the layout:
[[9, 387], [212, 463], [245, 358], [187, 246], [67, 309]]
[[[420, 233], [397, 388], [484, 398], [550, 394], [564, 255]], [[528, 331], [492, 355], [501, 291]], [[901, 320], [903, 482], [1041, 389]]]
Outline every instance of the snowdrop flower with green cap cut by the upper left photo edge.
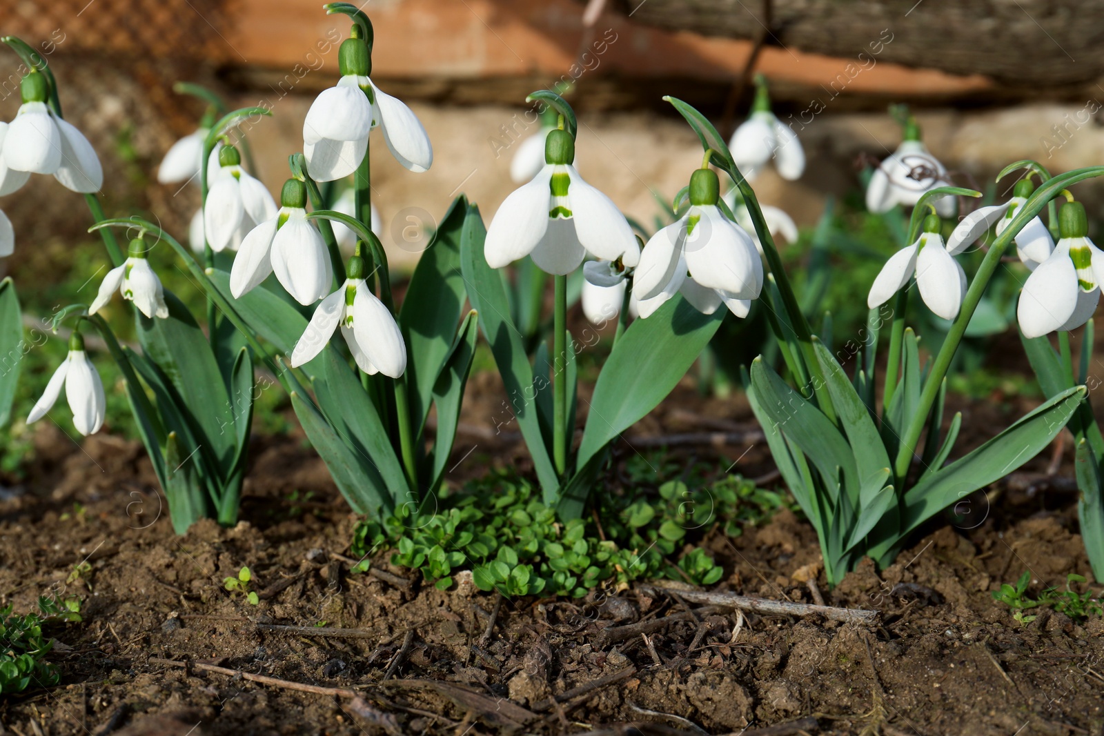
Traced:
[[2, 131], [0, 194], [15, 191], [32, 173], [53, 174], [74, 192], [95, 192], [104, 170], [88, 139], [46, 107], [49, 84], [32, 68], [20, 86], [23, 105]]

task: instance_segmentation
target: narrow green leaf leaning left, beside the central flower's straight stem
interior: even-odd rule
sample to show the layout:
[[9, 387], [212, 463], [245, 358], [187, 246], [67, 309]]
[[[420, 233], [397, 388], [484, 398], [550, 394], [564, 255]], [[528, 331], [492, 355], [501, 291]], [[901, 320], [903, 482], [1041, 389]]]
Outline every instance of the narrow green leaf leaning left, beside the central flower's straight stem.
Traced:
[[[531, 398], [526, 398], [527, 393], [532, 391], [533, 370], [526, 355], [524, 338], [510, 319], [510, 302], [502, 285], [502, 276], [487, 265], [484, 256], [486, 237], [487, 228], [479, 215], [479, 207], [469, 205], [460, 238], [464, 286], [468, 301], [479, 312], [479, 326], [490, 344], [495, 364], [506, 386], [507, 402], [503, 403], [502, 414], [512, 412], [517, 418], [518, 429], [529, 447], [544, 499], [553, 502], [560, 490], [560, 479], [552, 465], [549, 447], [541, 436], [537, 406]], [[496, 424], [501, 423], [496, 420]]]

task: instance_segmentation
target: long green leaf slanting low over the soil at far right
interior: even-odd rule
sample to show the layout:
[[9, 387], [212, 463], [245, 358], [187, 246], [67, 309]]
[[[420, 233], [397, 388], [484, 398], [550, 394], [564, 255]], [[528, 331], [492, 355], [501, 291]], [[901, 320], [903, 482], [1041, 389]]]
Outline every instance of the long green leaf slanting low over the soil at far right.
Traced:
[[[911, 532], [958, 499], [1004, 478], [1038, 455], [1062, 431], [1087, 393], [1084, 386], [1063, 391], [969, 455], [909, 489], [901, 534]], [[870, 555], [880, 557], [900, 538], [893, 534], [881, 540]]]

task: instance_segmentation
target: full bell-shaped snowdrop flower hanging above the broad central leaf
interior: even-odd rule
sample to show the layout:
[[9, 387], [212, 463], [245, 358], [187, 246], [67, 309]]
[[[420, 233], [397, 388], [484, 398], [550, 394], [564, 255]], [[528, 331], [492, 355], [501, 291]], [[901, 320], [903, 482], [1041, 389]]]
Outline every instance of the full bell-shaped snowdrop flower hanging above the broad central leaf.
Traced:
[[720, 181], [711, 169], [690, 177], [690, 209], [648, 241], [633, 279], [633, 296], [646, 318], [681, 292], [698, 311], [711, 314], [723, 302], [746, 317], [763, 288], [763, 263], [755, 244], [718, 209]]

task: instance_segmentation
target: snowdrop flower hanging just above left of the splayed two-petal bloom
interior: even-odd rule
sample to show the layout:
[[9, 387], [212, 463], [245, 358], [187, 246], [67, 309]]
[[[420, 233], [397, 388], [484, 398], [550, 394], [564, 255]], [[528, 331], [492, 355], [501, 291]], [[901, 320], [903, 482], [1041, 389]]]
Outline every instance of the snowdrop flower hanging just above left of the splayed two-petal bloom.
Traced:
[[253, 289], [276, 271], [288, 294], [300, 305], [312, 305], [330, 290], [333, 270], [330, 254], [318, 230], [307, 221], [307, 186], [288, 179], [276, 216], [245, 236], [230, 270], [234, 298]]

